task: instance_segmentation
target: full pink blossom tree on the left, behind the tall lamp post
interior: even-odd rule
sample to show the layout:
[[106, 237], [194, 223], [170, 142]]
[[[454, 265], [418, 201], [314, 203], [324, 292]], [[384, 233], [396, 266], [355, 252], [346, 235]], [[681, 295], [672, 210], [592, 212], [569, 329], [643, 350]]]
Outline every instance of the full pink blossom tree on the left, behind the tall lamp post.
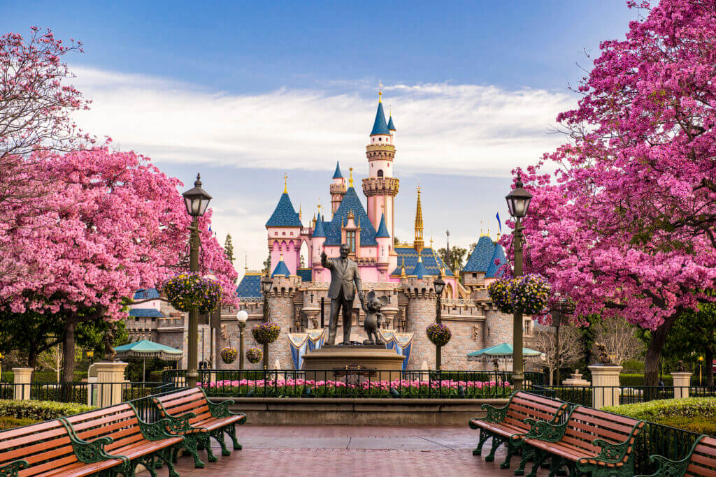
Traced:
[[[124, 318], [135, 290], [185, 268], [190, 217], [178, 191], [183, 185], [134, 152], [36, 152], [34, 160], [39, 176], [54, 173], [54, 192], [16, 205], [21, 226], [7, 233], [13, 259], [37, 273], [0, 278], [0, 303], [62, 320], [63, 352], [74, 356], [78, 323]], [[208, 212], [199, 222], [202, 265], [221, 284], [223, 303], [233, 304], [237, 274], [210, 223]], [[72, 380], [73, 370], [70, 360], [63, 380]]]

